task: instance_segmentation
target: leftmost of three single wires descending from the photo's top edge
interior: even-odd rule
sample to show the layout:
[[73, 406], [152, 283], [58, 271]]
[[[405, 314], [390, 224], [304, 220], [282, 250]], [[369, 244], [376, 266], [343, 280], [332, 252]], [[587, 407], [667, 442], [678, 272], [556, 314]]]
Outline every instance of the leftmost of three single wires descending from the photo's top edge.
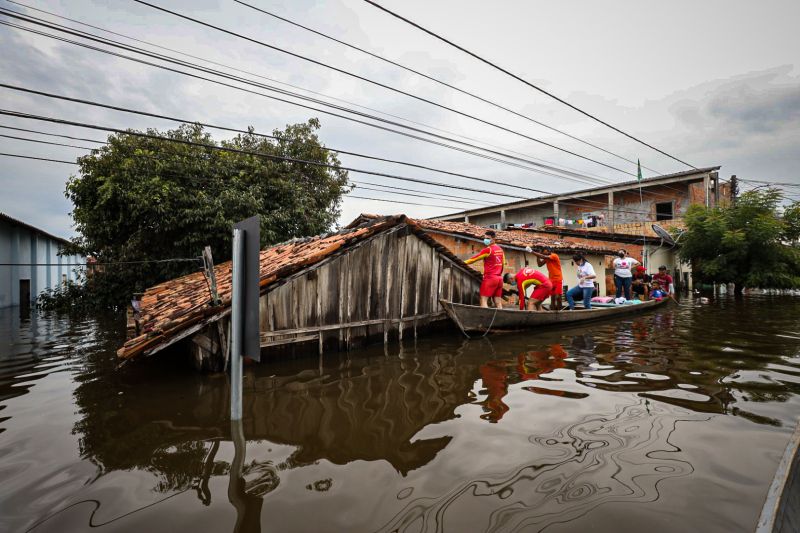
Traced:
[[[425, 103], [427, 103], [427, 104], [430, 104], [430, 105], [436, 106], [436, 107], [438, 107], [438, 108], [441, 108], [441, 109], [444, 109], [444, 110], [446, 110], [446, 111], [450, 111], [451, 113], [455, 113], [455, 114], [457, 114], [457, 115], [461, 115], [461, 116], [463, 116], [463, 117], [466, 117], [466, 118], [469, 118], [469, 119], [475, 120], [475, 121], [477, 121], [477, 122], [480, 122], [480, 123], [482, 123], [482, 124], [485, 124], [485, 125], [487, 125], [487, 126], [491, 126], [491, 127], [493, 127], [493, 128], [499, 129], [499, 130], [501, 130], [501, 131], [505, 131], [505, 132], [507, 132], [507, 133], [511, 133], [512, 135], [517, 135], [517, 136], [519, 136], [519, 137], [522, 137], [522, 138], [528, 139], [528, 140], [530, 140], [530, 141], [534, 141], [534, 142], [536, 142], [536, 143], [539, 143], [539, 144], [541, 144], [541, 145], [543, 145], [543, 146], [548, 146], [548, 147], [550, 147], [550, 148], [553, 148], [553, 149], [555, 149], [555, 150], [559, 150], [559, 151], [561, 151], [561, 152], [564, 152], [564, 153], [567, 153], [567, 154], [573, 155], [573, 156], [575, 156], [575, 157], [579, 157], [579, 158], [581, 158], [581, 159], [585, 159], [585, 160], [587, 160], [587, 161], [591, 161], [592, 163], [595, 163], [595, 164], [598, 164], [598, 165], [604, 166], [604, 167], [606, 167], [606, 168], [609, 168], [609, 169], [611, 169], [611, 170], [616, 170], [617, 172], [622, 172], [623, 174], [628, 174], [628, 175], [630, 175], [630, 176], [635, 176], [635, 174], [634, 174], [633, 172], [628, 172], [628, 171], [626, 171], [626, 170], [622, 170], [621, 168], [615, 167], [615, 166], [613, 166], [613, 165], [609, 165], [609, 164], [607, 164], [607, 163], [603, 163], [602, 161], [599, 161], [599, 160], [597, 160], [597, 159], [592, 159], [591, 157], [587, 157], [587, 156], [581, 155], [581, 154], [579, 154], [579, 153], [577, 153], [577, 152], [573, 152], [573, 151], [571, 151], [571, 150], [568, 150], [568, 149], [566, 149], [566, 148], [562, 148], [562, 147], [560, 147], [560, 146], [557, 146], [557, 145], [555, 145], [555, 144], [551, 144], [551, 143], [548, 143], [548, 142], [546, 142], [546, 141], [543, 141], [543, 140], [541, 140], [541, 139], [537, 139], [536, 137], [532, 137], [532, 136], [530, 136], [530, 135], [527, 135], [527, 134], [521, 133], [521, 132], [519, 132], [519, 131], [516, 131], [516, 130], [513, 130], [513, 129], [511, 129], [511, 128], [507, 128], [507, 127], [505, 127], [505, 126], [501, 126], [500, 124], [494, 123], [494, 122], [492, 122], [492, 121], [490, 121], [490, 120], [486, 120], [486, 119], [480, 118], [480, 117], [478, 117], [478, 116], [476, 116], [476, 115], [473, 115], [473, 114], [467, 113], [467, 112], [465, 112], [465, 111], [461, 111], [461, 110], [459, 110], [459, 109], [456, 109], [456, 108], [454, 108], [454, 107], [447, 106], [447, 105], [445, 105], [445, 104], [441, 104], [441, 103], [439, 103], [439, 102], [436, 102], [436, 101], [434, 101], [434, 100], [430, 100], [430, 99], [428, 99], [428, 98], [425, 98], [425, 97], [423, 97], [423, 96], [419, 96], [419, 95], [416, 95], [416, 94], [410, 93], [410, 92], [408, 92], [408, 91], [404, 91], [404, 90], [402, 90], [402, 89], [398, 89], [397, 87], [393, 87], [393, 86], [391, 86], [391, 85], [387, 85], [387, 84], [385, 84], [385, 83], [381, 83], [381, 82], [379, 82], [379, 81], [376, 81], [376, 80], [373, 80], [373, 79], [371, 79], [371, 78], [367, 78], [366, 76], [361, 76], [360, 74], [356, 74], [356, 73], [354, 73], [354, 72], [350, 72], [350, 71], [348, 71], [348, 70], [345, 70], [345, 69], [341, 69], [341, 68], [335, 67], [335, 66], [333, 66], [333, 65], [330, 65], [330, 64], [328, 64], [328, 63], [325, 63], [325, 62], [323, 62], [323, 61], [318, 61], [318, 60], [316, 60], [316, 59], [313, 59], [313, 58], [311, 58], [311, 57], [307, 57], [307, 56], [304, 56], [304, 55], [301, 55], [301, 54], [298, 54], [298, 53], [292, 52], [292, 51], [290, 51], [290, 50], [286, 50], [286, 49], [284, 49], [284, 48], [280, 48], [280, 47], [278, 47], [278, 46], [271, 45], [271, 44], [269, 44], [269, 43], [266, 43], [266, 42], [264, 42], [264, 41], [261, 41], [261, 40], [259, 40], [259, 39], [254, 39], [254, 38], [252, 38], [252, 37], [248, 37], [248, 36], [246, 36], [246, 35], [243, 35], [243, 34], [241, 34], [241, 33], [238, 33], [238, 32], [235, 32], [235, 31], [231, 31], [231, 30], [228, 30], [228, 29], [222, 28], [221, 26], [216, 26], [216, 25], [214, 25], [214, 24], [211, 24], [211, 23], [209, 23], [209, 22], [205, 22], [205, 21], [202, 21], [202, 20], [200, 20], [200, 19], [196, 19], [196, 18], [194, 18], [194, 17], [190, 17], [189, 15], [185, 15], [185, 14], [183, 14], [183, 13], [179, 13], [179, 12], [177, 12], [177, 11], [173, 11], [173, 10], [171, 10], [171, 9], [167, 9], [167, 8], [165, 8], [165, 7], [158, 6], [158, 5], [156, 5], [156, 4], [151, 4], [150, 2], [146, 2], [145, 0], [132, 0], [132, 1], [133, 1], [133, 2], [136, 2], [136, 3], [138, 3], [138, 4], [141, 4], [141, 5], [144, 5], [144, 6], [151, 7], [151, 8], [153, 8], [153, 9], [156, 9], [156, 10], [158, 10], [158, 11], [161, 11], [161, 12], [163, 12], [163, 13], [168, 13], [168, 14], [170, 14], [170, 15], [173, 15], [173, 16], [175, 16], [175, 17], [182, 18], [182, 19], [184, 19], [184, 20], [188, 20], [188, 21], [190, 21], [190, 22], [194, 22], [195, 24], [199, 24], [199, 25], [201, 25], [201, 26], [205, 26], [205, 27], [207, 27], [207, 28], [211, 28], [211, 29], [217, 30], [217, 31], [219, 31], [219, 32], [222, 32], [222, 33], [225, 33], [225, 34], [227, 34], [227, 35], [231, 35], [231, 36], [234, 36], [234, 37], [238, 37], [239, 39], [243, 39], [243, 40], [246, 40], [246, 41], [248, 41], [248, 42], [251, 42], [251, 43], [254, 43], [254, 44], [257, 44], [257, 45], [260, 45], [260, 46], [266, 47], [266, 48], [269, 48], [270, 50], [275, 50], [275, 51], [277, 51], [277, 52], [281, 52], [281, 53], [283, 53], [283, 54], [287, 54], [287, 55], [289, 55], [289, 56], [292, 56], [292, 57], [294, 57], [294, 58], [297, 58], [297, 59], [302, 59], [302, 60], [304, 60], [304, 61], [307, 61], [307, 62], [309, 62], [309, 63], [312, 63], [312, 64], [314, 64], [314, 65], [318, 65], [318, 66], [321, 66], [321, 67], [324, 67], [324, 68], [330, 69], [330, 70], [332, 70], [332, 71], [334, 71], [334, 72], [338, 72], [338, 73], [340, 73], [340, 74], [344, 74], [345, 76], [350, 76], [350, 77], [352, 77], [352, 78], [355, 78], [355, 79], [357, 79], [357, 80], [364, 81], [364, 82], [366, 82], [366, 83], [370, 83], [370, 84], [372, 84], [372, 85], [375, 85], [375, 86], [377, 86], [377, 87], [381, 87], [381, 88], [383, 88], [383, 89], [386, 89], [386, 90], [389, 90], [389, 91], [395, 92], [395, 93], [397, 93], [397, 94], [402, 94], [402, 95], [404, 95], [404, 96], [407, 96], [407, 97], [409, 97], [409, 98], [413, 98], [413, 99], [415, 99], [415, 100], [418, 100], [418, 101], [420, 101], [420, 102], [425, 102]], [[684, 163], [684, 164], [686, 164], [686, 163]]]

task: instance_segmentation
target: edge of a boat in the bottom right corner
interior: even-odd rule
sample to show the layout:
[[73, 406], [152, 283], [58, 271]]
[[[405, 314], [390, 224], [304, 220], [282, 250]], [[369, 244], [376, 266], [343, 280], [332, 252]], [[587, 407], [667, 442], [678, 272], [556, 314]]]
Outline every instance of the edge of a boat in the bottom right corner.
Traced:
[[769, 487], [756, 533], [800, 531], [800, 422]]

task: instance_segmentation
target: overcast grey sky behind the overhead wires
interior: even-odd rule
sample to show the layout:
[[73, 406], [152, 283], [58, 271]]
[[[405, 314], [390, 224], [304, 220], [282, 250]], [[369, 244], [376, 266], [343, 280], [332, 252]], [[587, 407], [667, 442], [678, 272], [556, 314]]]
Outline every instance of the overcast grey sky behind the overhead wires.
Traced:
[[[640, 159], [646, 177], [689, 168], [362, 0], [247, 1], [446, 81], [625, 159]], [[501, 164], [262, 95], [0, 26], [0, 49], [3, 50], [0, 83], [235, 128], [252, 126], [263, 133], [318, 117], [322, 123], [319, 136], [326, 146], [506, 185], [341, 155], [342, 163], [347, 166], [473, 187], [484, 192], [351, 173], [351, 179], [362, 184], [419, 189], [423, 196], [457, 195], [486, 204], [513, 200], [490, 193], [533, 195], [520, 187], [567, 192], [627, 181], [636, 173], [634, 163], [256, 12], [234, 0], [152, 0], [151, 3], [396, 87], [503, 129], [132, 0], [21, 2], [29, 7], [8, 0], [0, 0], [0, 7], [111, 37], [100, 30], [89, 30], [76, 22], [59, 20], [30, 8], [47, 10], [247, 71], [248, 74], [238, 74], [262, 83], [292, 84], [303, 89], [290, 88], [292, 91], [304, 95], [312, 95], [306, 91], [314, 91], [319, 94], [312, 96], [326, 102], [349, 108], [367, 107], [372, 110], [368, 111], [371, 114], [426, 132], [461, 140], [468, 138], [465, 142], [493, 146], [492, 149], [504, 153], [523, 154], [520, 157], [527, 160], [546, 161], [585, 176], [580, 180], [564, 179], [530, 168]], [[800, 2], [390, 0], [380, 3], [678, 159], [696, 167], [720, 165], [723, 179], [736, 174], [744, 179], [800, 184], [800, 32], [796, 31]], [[11, 19], [0, 15], [0, 21]], [[124, 37], [114, 38], [155, 50]], [[170, 55], [176, 54], [170, 52]], [[166, 130], [176, 126], [166, 120], [3, 88], [0, 88], [0, 102], [0, 108], [13, 111], [122, 129]], [[363, 110], [363, 107], [357, 109]], [[0, 126], [98, 140], [105, 137], [100, 131], [8, 116], [0, 116]], [[87, 145], [2, 128], [0, 134]], [[222, 132], [214, 132], [214, 135], [218, 139], [230, 137]], [[616, 169], [545, 146], [530, 137]], [[0, 152], [71, 161], [85, 153], [80, 149], [6, 137], [0, 137]], [[0, 212], [57, 235], [74, 236], [69, 216], [71, 204], [64, 196], [64, 185], [75, 171], [76, 167], [70, 165], [0, 156]], [[800, 189], [790, 190], [800, 197]], [[341, 224], [360, 213], [430, 217], [479, 205], [441, 196], [420, 198], [358, 188], [352, 194], [383, 201], [345, 198]]]

